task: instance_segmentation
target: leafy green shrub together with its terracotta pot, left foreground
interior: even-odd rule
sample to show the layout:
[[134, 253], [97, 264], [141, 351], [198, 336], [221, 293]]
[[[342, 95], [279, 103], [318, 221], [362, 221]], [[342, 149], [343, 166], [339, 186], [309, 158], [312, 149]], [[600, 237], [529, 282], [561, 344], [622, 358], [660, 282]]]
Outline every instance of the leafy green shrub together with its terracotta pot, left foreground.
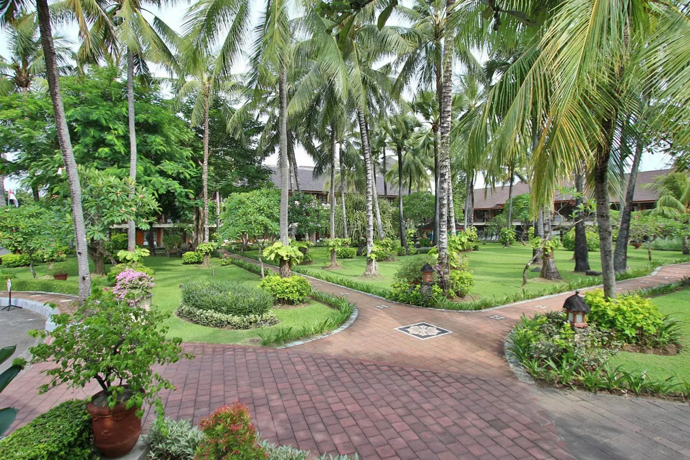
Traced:
[[190, 357], [182, 351], [181, 339], [166, 337], [168, 328], [161, 323], [168, 316], [118, 302], [112, 292], [97, 290], [71, 316], [53, 316], [57, 327], [52, 332], [30, 331], [33, 337], [52, 339], [30, 348], [32, 362], [55, 365], [43, 371], [50, 383], [39, 392], [61, 383], [80, 388], [92, 380], [99, 383], [101, 391], [91, 397], [86, 410], [103, 457], [120, 457], [134, 448], [144, 402], [155, 403], [163, 412], [158, 392], [174, 387], [153, 366]]

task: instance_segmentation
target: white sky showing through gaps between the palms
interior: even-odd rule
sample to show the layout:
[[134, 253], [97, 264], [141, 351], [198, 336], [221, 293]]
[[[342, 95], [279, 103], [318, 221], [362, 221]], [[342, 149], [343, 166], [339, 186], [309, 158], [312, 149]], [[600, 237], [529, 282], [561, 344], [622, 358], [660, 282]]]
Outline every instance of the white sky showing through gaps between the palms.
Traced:
[[[253, 3], [255, 4], [254, 6], [257, 7], [258, 3], [260, 3], [259, 0], [253, 0]], [[177, 32], [182, 32], [182, 25], [183, 25], [183, 20], [184, 20], [184, 15], [186, 13], [186, 10], [188, 8], [189, 3], [188, 2], [181, 2], [177, 3], [175, 6], [164, 6], [163, 8], [157, 9], [157, 8], [150, 8], [153, 14], [157, 14], [160, 19], [162, 19], [164, 22], [168, 24], [168, 26], [172, 27], [175, 29]], [[252, 8], [253, 11], [259, 10], [259, 8]], [[256, 18], [256, 15], [255, 15]], [[53, 33], [61, 33], [66, 35], [70, 40], [72, 40], [73, 43], [77, 43], [77, 28], [75, 26], [66, 26], [62, 28], [55, 28], [57, 30], [54, 30]], [[3, 57], [8, 56], [8, 43], [7, 43], [7, 33], [3, 30], [0, 30], [0, 55]], [[233, 73], [239, 73], [243, 72], [245, 70], [245, 64], [246, 61], [239, 62], [237, 64], [237, 68], [233, 70]], [[314, 162], [312, 161], [311, 157], [306, 154], [302, 148], [298, 148], [295, 151], [295, 157], [297, 159], [297, 164], [299, 166], [314, 166]], [[275, 165], [277, 163], [277, 152], [273, 155], [270, 155], [264, 161], [265, 164], [269, 165]], [[662, 169], [666, 168], [669, 163], [669, 158], [666, 155], [662, 154], [651, 154], [649, 152], [646, 152], [642, 156], [642, 161], [640, 163], [640, 170], [641, 171], [647, 171], [647, 170], [655, 170], [655, 169]], [[17, 181], [6, 179], [6, 187], [9, 188], [17, 188], [19, 184]], [[477, 181], [477, 187], [482, 187], [484, 185], [483, 179], [480, 181]]]

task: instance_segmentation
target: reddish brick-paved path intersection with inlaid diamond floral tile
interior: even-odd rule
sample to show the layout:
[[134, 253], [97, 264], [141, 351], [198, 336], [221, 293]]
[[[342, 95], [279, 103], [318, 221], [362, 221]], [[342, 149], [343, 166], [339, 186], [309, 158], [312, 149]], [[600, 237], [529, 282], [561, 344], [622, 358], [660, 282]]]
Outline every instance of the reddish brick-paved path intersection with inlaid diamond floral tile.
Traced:
[[[618, 288], [684, 276], [690, 264]], [[348, 294], [357, 320], [285, 350], [188, 343], [195, 359], [162, 370], [178, 387], [162, 394], [166, 414], [197, 422], [239, 400], [264, 439], [313, 452], [357, 452], [362, 459], [690, 458], [690, 406], [517, 380], [504, 359], [506, 334], [522, 314], [562, 308], [570, 293], [449, 312], [309, 280], [317, 290]], [[96, 391], [55, 388], [38, 395], [45, 368], [31, 366], [3, 392], [1, 405], [19, 409], [17, 425]]]

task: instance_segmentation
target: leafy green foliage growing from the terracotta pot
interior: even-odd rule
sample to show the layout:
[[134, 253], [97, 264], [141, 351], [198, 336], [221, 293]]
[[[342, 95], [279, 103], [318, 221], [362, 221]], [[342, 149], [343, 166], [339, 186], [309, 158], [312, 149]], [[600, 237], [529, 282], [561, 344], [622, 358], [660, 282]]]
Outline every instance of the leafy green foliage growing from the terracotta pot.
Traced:
[[50, 334], [30, 331], [33, 337], [45, 339], [50, 335], [52, 339], [29, 349], [32, 362], [50, 361], [55, 366], [44, 371], [50, 386], [43, 384], [39, 392], [61, 383], [83, 387], [97, 380], [112, 408], [121, 401], [125, 381], [132, 390], [126, 408], [137, 408], [137, 416], [141, 417], [146, 399], [162, 410], [157, 394], [173, 386], [153, 370], [154, 366], [189, 357], [182, 352], [182, 339], [166, 337], [168, 327], [162, 323], [169, 316], [156, 309], [122, 308], [112, 293], [95, 290], [71, 315], [53, 315], [57, 327]]

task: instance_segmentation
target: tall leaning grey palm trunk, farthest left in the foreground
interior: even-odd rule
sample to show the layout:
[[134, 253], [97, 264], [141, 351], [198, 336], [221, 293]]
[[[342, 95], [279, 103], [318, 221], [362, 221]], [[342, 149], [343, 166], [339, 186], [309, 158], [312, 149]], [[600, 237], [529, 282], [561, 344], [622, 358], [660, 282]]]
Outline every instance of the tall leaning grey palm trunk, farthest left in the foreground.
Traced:
[[79, 183], [77, 162], [72, 152], [72, 141], [70, 140], [70, 131], [67, 127], [65, 108], [62, 104], [62, 94], [60, 94], [55, 45], [52, 41], [52, 31], [50, 30], [50, 8], [48, 8], [48, 0], [36, 0], [36, 10], [39, 17], [39, 30], [41, 31], [41, 46], [43, 47], [43, 55], [46, 60], [46, 79], [48, 80], [50, 99], [52, 99], [57, 140], [62, 153], [62, 159], [65, 163], [67, 179], [70, 184], [72, 219], [75, 223], [77, 267], [79, 270], [79, 300], [83, 301], [91, 294], [91, 276], [88, 268], [86, 226], [84, 225], [83, 210], [81, 209], [81, 184]]

